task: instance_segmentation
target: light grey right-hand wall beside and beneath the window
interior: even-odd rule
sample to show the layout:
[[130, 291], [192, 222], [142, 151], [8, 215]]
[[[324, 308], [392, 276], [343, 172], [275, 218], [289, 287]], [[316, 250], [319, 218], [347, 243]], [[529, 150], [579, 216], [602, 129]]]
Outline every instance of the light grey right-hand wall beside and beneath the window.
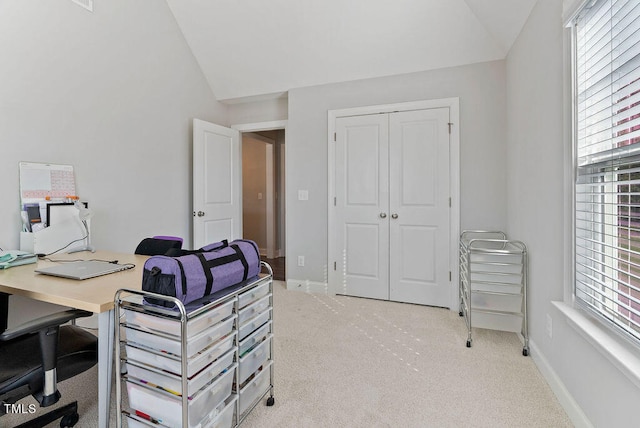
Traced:
[[529, 249], [532, 357], [569, 415], [577, 426], [637, 426], [638, 379], [551, 303], [571, 290], [569, 45], [562, 24], [561, 0], [538, 1], [507, 57], [508, 233]]

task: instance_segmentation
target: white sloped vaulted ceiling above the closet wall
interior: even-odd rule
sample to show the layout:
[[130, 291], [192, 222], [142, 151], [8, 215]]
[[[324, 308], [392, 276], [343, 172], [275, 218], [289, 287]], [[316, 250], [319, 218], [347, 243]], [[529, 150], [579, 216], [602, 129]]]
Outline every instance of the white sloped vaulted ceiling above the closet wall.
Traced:
[[167, 0], [219, 100], [503, 59], [537, 0]]

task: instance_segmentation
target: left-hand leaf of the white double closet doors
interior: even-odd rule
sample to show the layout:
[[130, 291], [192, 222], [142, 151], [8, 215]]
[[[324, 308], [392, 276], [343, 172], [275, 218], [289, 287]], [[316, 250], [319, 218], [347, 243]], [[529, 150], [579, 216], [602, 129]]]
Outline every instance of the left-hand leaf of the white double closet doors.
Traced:
[[387, 115], [336, 119], [338, 294], [389, 299]]

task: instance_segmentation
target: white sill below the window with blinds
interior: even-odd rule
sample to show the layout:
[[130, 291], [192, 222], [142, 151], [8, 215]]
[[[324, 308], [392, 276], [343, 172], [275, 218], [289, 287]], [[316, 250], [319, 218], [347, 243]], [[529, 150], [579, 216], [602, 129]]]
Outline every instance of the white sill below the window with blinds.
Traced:
[[640, 388], [638, 347], [619, 337], [584, 310], [565, 302], [551, 302], [567, 317], [569, 325]]

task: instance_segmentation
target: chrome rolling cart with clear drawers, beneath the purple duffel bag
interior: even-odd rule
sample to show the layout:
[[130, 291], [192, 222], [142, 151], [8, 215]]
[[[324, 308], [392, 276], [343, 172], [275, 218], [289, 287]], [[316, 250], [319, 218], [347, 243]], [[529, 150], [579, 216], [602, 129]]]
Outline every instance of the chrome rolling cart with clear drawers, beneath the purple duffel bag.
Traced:
[[[237, 427], [267, 394], [267, 405], [274, 404], [273, 271], [261, 264], [266, 274], [187, 305], [170, 296], [118, 290], [118, 428]], [[145, 298], [172, 302], [176, 309]]]

